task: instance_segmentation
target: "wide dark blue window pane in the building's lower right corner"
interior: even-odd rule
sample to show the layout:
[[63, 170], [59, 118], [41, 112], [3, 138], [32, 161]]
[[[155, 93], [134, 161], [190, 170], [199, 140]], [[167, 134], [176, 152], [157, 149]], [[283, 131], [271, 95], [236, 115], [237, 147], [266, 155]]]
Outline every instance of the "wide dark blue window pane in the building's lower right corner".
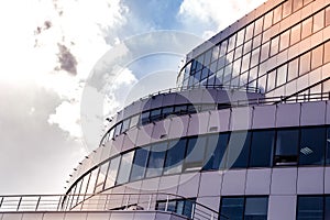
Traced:
[[298, 197], [297, 220], [322, 220], [323, 219], [323, 197], [300, 196]]

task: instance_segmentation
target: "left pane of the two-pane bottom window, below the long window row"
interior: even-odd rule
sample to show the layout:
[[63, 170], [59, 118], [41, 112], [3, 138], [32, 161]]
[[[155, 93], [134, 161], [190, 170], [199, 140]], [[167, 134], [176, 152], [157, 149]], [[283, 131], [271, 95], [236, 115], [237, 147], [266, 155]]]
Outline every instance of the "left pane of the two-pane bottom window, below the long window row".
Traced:
[[244, 198], [222, 198], [220, 220], [242, 220], [244, 211]]

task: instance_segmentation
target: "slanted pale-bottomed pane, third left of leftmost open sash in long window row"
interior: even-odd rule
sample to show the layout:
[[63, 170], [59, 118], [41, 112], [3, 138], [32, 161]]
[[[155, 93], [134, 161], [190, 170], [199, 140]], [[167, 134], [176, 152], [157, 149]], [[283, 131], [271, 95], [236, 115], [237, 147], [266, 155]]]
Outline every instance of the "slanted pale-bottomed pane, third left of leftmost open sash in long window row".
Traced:
[[148, 152], [150, 152], [150, 147], [138, 148], [135, 151], [132, 173], [130, 177], [132, 182], [142, 179], [144, 177]]

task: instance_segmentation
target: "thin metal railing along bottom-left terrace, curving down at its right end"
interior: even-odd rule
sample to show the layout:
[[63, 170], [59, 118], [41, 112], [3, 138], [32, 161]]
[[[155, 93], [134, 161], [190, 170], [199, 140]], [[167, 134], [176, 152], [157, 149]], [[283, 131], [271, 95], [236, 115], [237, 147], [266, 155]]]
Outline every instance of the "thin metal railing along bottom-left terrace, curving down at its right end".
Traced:
[[[81, 200], [79, 200], [81, 199]], [[157, 208], [156, 204], [166, 201], [166, 209]], [[123, 193], [123, 194], [89, 194], [89, 195], [4, 195], [0, 196], [1, 212], [22, 211], [111, 211], [111, 210], [147, 210], [167, 211], [170, 201], [190, 201], [194, 211], [189, 219], [218, 219], [219, 212], [180, 195], [168, 193]], [[187, 210], [186, 210], [187, 211]], [[176, 212], [177, 213], [177, 212]], [[183, 212], [185, 213], [185, 212]], [[177, 213], [185, 216], [183, 213]], [[187, 216], [186, 216], [187, 217]], [[224, 217], [227, 218], [227, 217]]]

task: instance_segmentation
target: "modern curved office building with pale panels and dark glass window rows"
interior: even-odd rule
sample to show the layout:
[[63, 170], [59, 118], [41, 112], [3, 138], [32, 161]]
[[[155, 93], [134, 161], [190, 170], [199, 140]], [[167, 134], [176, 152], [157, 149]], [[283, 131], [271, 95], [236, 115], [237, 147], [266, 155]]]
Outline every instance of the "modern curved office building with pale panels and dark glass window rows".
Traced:
[[54, 210], [0, 197], [0, 219], [330, 219], [329, 0], [268, 0], [177, 81], [118, 112]]

